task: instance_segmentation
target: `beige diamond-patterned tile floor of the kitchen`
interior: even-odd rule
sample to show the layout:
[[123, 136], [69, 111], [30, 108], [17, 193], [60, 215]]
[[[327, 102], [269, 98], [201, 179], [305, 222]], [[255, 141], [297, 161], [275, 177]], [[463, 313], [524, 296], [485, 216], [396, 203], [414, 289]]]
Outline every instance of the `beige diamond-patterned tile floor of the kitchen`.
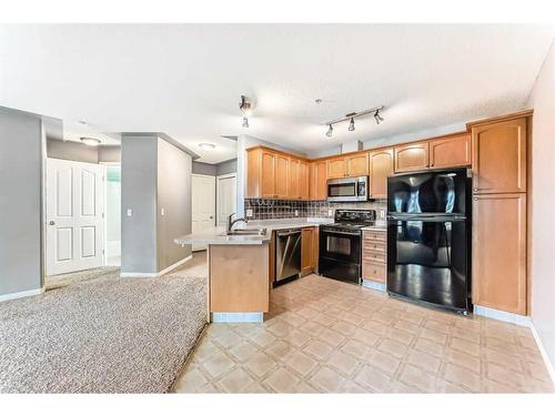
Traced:
[[263, 324], [211, 324], [174, 386], [188, 393], [553, 393], [531, 331], [309, 275]]

